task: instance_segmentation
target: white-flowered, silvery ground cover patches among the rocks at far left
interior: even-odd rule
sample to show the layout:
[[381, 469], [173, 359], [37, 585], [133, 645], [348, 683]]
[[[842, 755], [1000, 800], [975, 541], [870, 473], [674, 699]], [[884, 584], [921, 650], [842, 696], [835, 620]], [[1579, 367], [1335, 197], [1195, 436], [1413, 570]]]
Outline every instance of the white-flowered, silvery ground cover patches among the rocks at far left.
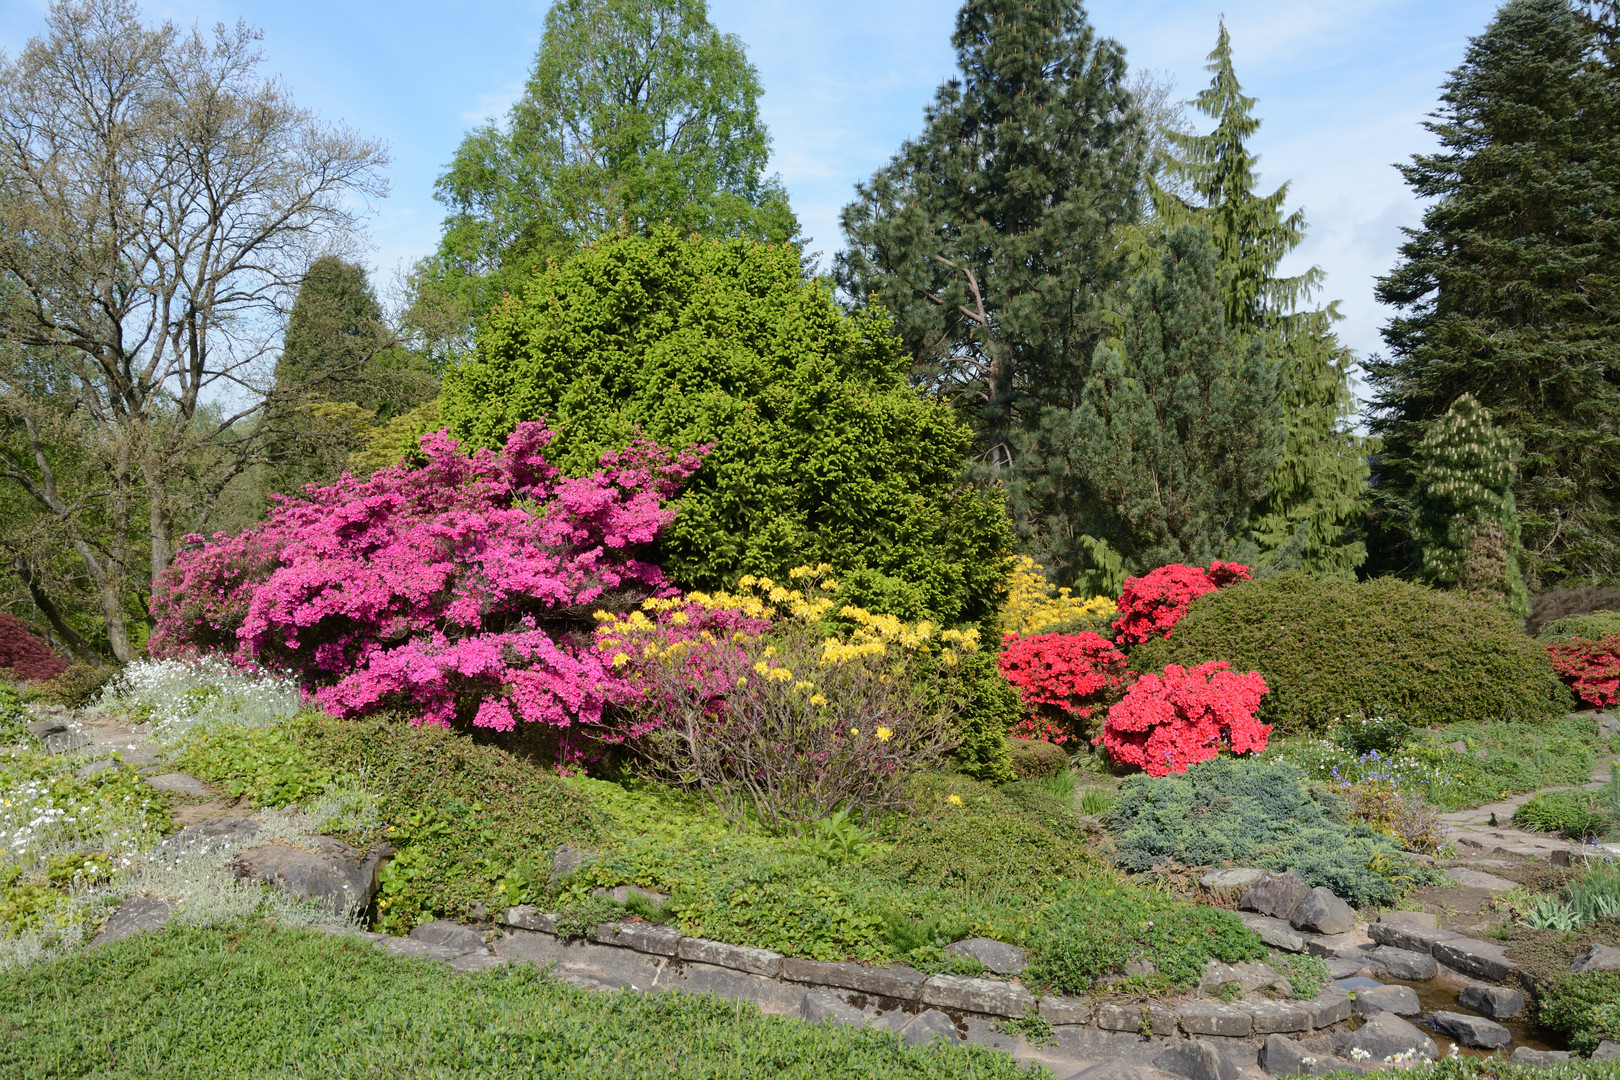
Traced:
[[[217, 662], [143, 661], [125, 669], [97, 708], [126, 714], [175, 750], [209, 725], [290, 719], [300, 695], [288, 680]], [[245, 915], [285, 926], [332, 921], [313, 904], [240, 881], [228, 868], [237, 845], [164, 847], [173, 831], [167, 798], [131, 766], [76, 776], [87, 761], [26, 743], [0, 748], [0, 970], [81, 944], [130, 895], [167, 900], [172, 918], [186, 925]], [[261, 811], [254, 818], [264, 831], [254, 844], [295, 842], [355, 813], [352, 793]]]

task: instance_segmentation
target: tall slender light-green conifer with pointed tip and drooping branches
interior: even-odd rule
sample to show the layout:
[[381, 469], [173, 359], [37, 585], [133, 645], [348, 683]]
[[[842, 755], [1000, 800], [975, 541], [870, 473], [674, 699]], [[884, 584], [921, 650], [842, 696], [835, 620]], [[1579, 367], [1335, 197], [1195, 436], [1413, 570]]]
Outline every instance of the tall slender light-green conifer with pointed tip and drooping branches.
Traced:
[[1170, 133], [1166, 173], [1187, 198], [1152, 185], [1157, 225], [1204, 223], [1220, 253], [1228, 325], [1267, 342], [1281, 364], [1280, 398], [1288, 440], [1254, 508], [1249, 531], [1260, 559], [1275, 568], [1348, 575], [1366, 559], [1351, 536], [1367, 491], [1366, 445], [1349, 427], [1354, 397], [1351, 356], [1333, 334], [1332, 306], [1302, 309], [1322, 282], [1311, 267], [1278, 275], [1306, 236], [1302, 210], [1285, 210], [1288, 185], [1256, 191], [1259, 159], [1249, 141], [1260, 130], [1256, 99], [1233, 68], [1221, 21], [1209, 55], [1212, 79], [1194, 105], [1215, 121], [1209, 134]]

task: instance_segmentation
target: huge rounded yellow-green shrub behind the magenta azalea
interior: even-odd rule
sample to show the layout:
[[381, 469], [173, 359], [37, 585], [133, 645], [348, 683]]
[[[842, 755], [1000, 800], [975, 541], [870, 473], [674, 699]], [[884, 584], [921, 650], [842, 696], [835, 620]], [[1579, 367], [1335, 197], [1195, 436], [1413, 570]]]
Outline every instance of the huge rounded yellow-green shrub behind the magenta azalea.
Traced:
[[538, 272], [447, 374], [442, 418], [480, 445], [546, 418], [572, 474], [637, 432], [713, 444], [661, 539], [679, 585], [826, 562], [850, 602], [988, 628], [1006, 512], [961, 483], [970, 436], [907, 371], [888, 317], [844, 314], [794, 248], [666, 228]]

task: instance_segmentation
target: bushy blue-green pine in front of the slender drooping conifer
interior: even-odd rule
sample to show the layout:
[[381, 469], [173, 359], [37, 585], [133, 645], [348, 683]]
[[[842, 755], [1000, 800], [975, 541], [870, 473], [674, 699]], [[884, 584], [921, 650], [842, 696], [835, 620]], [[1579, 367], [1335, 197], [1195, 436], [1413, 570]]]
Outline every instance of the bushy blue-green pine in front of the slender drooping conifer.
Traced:
[[1097, 348], [1072, 413], [1042, 429], [1051, 505], [1089, 512], [1066, 525], [1134, 567], [1204, 563], [1238, 547], [1277, 465], [1285, 426], [1278, 366], [1264, 338], [1226, 324], [1226, 274], [1197, 225], [1165, 241], [1132, 282], [1119, 335]]

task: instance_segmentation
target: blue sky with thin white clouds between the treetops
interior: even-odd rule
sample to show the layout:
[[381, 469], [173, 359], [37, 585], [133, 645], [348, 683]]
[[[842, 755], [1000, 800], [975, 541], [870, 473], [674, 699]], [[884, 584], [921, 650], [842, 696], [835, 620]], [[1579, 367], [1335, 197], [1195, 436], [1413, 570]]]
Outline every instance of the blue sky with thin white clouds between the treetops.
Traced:
[[[152, 19], [238, 18], [264, 31], [266, 70], [329, 121], [384, 139], [390, 194], [369, 219], [371, 262], [389, 288], [434, 249], [442, 207], [433, 185], [463, 133], [501, 118], [522, 94], [549, 0], [172, 0]], [[1260, 180], [1290, 185], [1311, 233], [1285, 272], [1320, 266], [1324, 300], [1346, 316], [1343, 340], [1364, 358], [1388, 317], [1372, 298], [1422, 207], [1395, 170], [1434, 146], [1422, 121], [1495, 0], [1090, 0], [1100, 34], [1132, 68], [1152, 68], [1191, 97], [1225, 13], [1233, 57], [1264, 126]], [[0, 49], [44, 31], [40, 0], [0, 0]], [[857, 180], [919, 133], [922, 110], [954, 71], [953, 0], [710, 0], [710, 18], [745, 44], [760, 71], [771, 167], [812, 249], [842, 246], [838, 212]], [[1202, 117], [1194, 115], [1194, 121]], [[1199, 123], [1202, 126], [1202, 123]]]

